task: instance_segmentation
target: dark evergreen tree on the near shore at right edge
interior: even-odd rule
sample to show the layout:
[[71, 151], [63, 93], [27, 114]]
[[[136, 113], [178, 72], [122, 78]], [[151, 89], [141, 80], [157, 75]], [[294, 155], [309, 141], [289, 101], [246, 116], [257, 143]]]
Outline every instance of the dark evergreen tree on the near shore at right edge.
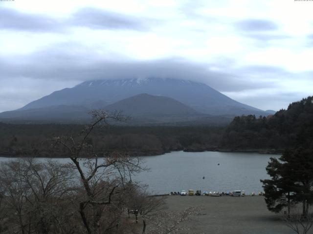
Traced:
[[280, 212], [291, 204], [302, 202], [304, 216], [313, 203], [313, 153], [299, 148], [287, 150], [279, 158], [270, 158], [266, 168], [271, 179], [261, 180], [269, 211]]

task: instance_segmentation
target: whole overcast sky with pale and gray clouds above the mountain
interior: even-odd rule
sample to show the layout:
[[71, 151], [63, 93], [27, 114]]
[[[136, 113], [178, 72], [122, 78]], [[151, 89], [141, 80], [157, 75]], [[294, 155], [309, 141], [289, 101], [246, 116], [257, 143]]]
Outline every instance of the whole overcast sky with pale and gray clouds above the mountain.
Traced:
[[313, 1], [0, 0], [0, 112], [101, 78], [201, 81], [242, 103], [313, 95]]

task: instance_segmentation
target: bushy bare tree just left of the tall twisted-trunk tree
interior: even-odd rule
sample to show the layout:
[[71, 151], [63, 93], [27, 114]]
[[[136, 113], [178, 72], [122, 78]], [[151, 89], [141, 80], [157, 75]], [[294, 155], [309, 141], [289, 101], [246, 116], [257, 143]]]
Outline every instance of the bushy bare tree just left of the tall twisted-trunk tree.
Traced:
[[27, 158], [23, 160], [20, 173], [31, 191], [27, 201], [34, 229], [42, 234], [50, 233], [50, 230], [58, 233], [68, 231], [69, 226], [63, 220], [70, 217], [70, 209], [64, 199], [76, 193], [73, 169], [55, 160], [38, 163], [34, 158]]

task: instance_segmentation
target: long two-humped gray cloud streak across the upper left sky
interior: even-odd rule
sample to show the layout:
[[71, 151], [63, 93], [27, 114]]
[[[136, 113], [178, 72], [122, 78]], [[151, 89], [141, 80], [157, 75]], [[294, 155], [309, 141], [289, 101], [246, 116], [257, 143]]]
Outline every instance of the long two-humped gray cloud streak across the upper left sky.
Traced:
[[152, 19], [140, 19], [96, 8], [81, 8], [66, 19], [49, 18], [40, 14], [29, 14], [10, 8], [0, 8], [0, 29], [31, 32], [59, 32], [70, 26], [91, 29], [148, 30], [149, 25], [160, 23]]

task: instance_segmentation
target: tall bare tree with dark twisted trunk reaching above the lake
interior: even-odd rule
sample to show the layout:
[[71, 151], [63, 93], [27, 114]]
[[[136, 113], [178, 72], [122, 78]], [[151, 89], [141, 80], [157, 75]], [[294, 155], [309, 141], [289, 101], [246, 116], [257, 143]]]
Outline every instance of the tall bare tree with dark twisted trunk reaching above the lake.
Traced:
[[[120, 196], [126, 183], [132, 181], [132, 175], [144, 168], [140, 158], [132, 158], [118, 153], [111, 154], [100, 160], [92, 144], [88, 142], [91, 132], [101, 124], [110, 120], [124, 121], [120, 113], [109, 115], [103, 110], [91, 112], [92, 123], [82, 132], [76, 142], [74, 137], [55, 137], [53, 148], [61, 147], [67, 152], [78, 171], [82, 189], [79, 191], [79, 214], [88, 234], [98, 234], [100, 230], [110, 230], [118, 226], [118, 221], [109, 221], [112, 214], [106, 213], [106, 206], [121, 204]], [[120, 207], [115, 209], [120, 211]], [[121, 214], [121, 212], [118, 212]], [[120, 217], [119, 217], [120, 218]], [[104, 226], [108, 224], [109, 226]], [[103, 231], [102, 231], [103, 233]]]

